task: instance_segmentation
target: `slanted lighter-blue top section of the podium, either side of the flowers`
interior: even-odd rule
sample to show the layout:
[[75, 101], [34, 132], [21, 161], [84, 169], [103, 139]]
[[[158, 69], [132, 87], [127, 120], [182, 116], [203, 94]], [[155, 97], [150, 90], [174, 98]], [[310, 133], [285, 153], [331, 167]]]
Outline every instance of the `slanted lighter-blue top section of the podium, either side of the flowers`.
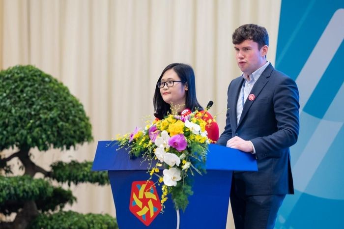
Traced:
[[[93, 171], [147, 170], [149, 164], [143, 158], [129, 159], [124, 148], [117, 150], [117, 145], [108, 146], [111, 141], [99, 141], [93, 161]], [[257, 171], [257, 162], [250, 153], [209, 144], [206, 170]]]

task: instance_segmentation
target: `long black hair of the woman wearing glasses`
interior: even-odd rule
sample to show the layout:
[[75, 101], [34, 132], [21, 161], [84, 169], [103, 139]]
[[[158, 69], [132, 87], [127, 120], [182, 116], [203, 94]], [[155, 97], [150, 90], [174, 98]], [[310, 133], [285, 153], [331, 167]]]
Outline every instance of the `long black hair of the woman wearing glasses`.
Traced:
[[[203, 108], [201, 107], [200, 103], [197, 101], [197, 97], [196, 97], [195, 73], [192, 67], [184, 63], [169, 64], [163, 70], [157, 82], [160, 82], [164, 73], [170, 69], [173, 69], [173, 71], [179, 76], [180, 81], [185, 82], [183, 83], [183, 85], [187, 84], [188, 86], [188, 90], [186, 91], [186, 98], [185, 98], [185, 108], [190, 109], [192, 112], [196, 110], [202, 111]], [[160, 93], [160, 88], [158, 88], [158, 86], [155, 87], [153, 105], [154, 105], [155, 117], [162, 119], [167, 114], [171, 114], [171, 106], [170, 104], [166, 103], [163, 100]]]

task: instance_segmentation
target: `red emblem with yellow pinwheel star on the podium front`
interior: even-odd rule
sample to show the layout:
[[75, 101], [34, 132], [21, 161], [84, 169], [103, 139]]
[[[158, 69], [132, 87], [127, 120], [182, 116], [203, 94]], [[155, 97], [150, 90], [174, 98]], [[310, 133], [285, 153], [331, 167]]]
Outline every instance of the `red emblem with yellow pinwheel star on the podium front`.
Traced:
[[149, 226], [161, 211], [161, 202], [154, 183], [134, 181], [131, 184], [129, 210], [145, 226]]

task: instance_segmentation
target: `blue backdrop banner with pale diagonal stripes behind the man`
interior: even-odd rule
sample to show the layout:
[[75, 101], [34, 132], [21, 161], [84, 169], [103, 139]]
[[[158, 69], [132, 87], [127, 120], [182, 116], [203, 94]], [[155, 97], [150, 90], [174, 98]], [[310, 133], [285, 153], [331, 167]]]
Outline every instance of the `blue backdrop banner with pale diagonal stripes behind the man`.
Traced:
[[339, 229], [344, 209], [344, 0], [283, 0], [276, 68], [300, 91], [295, 195], [276, 229]]

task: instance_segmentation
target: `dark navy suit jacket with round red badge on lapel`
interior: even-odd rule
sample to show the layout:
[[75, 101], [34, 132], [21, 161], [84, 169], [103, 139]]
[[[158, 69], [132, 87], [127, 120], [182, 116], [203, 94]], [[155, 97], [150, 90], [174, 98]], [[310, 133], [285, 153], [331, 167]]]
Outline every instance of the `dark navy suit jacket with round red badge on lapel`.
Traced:
[[256, 149], [258, 172], [234, 172], [236, 184], [246, 195], [293, 194], [289, 147], [299, 133], [299, 92], [295, 82], [269, 64], [246, 100], [237, 124], [236, 103], [244, 79], [234, 79], [228, 87], [225, 131], [217, 141], [239, 136]]

